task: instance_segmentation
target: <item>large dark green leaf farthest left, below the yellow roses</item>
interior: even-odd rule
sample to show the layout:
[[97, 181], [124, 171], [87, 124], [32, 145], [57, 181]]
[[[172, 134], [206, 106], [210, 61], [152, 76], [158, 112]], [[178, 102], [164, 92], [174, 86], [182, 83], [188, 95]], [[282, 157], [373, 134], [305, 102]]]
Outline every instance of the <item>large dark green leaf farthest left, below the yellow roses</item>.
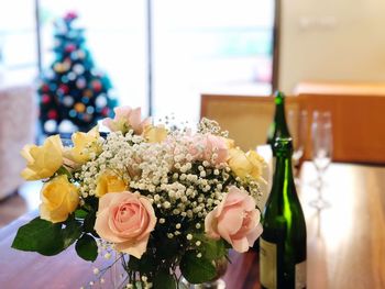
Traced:
[[66, 248], [61, 231], [62, 224], [54, 224], [37, 216], [19, 227], [12, 247], [37, 252], [45, 256], [56, 255]]

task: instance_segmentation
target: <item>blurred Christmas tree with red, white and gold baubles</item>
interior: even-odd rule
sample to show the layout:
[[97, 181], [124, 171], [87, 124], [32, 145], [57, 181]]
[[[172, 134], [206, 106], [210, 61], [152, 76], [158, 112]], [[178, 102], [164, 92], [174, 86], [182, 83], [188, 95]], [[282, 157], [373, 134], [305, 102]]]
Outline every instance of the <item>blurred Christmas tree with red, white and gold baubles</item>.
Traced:
[[89, 131], [98, 120], [111, 116], [118, 104], [109, 78], [94, 65], [76, 19], [70, 12], [55, 22], [55, 60], [38, 88], [40, 120], [47, 135]]

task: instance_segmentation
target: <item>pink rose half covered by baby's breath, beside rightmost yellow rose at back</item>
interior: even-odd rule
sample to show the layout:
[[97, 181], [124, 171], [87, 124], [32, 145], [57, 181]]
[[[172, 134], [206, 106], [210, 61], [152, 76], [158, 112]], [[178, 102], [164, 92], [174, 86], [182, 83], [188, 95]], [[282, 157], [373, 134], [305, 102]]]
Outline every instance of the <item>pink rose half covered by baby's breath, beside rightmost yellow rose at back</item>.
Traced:
[[[219, 165], [226, 163], [229, 157], [228, 145], [221, 136], [196, 134], [190, 142], [189, 154], [197, 160], [207, 160]], [[212, 157], [215, 154], [216, 158]]]

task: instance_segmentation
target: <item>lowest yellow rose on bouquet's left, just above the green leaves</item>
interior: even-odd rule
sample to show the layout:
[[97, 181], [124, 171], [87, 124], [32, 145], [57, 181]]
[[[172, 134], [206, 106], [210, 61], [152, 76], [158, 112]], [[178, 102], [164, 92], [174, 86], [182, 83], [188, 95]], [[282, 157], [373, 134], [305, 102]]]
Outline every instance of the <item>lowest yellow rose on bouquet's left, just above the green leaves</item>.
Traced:
[[66, 175], [46, 182], [41, 191], [40, 215], [53, 223], [64, 222], [79, 203], [78, 189]]

